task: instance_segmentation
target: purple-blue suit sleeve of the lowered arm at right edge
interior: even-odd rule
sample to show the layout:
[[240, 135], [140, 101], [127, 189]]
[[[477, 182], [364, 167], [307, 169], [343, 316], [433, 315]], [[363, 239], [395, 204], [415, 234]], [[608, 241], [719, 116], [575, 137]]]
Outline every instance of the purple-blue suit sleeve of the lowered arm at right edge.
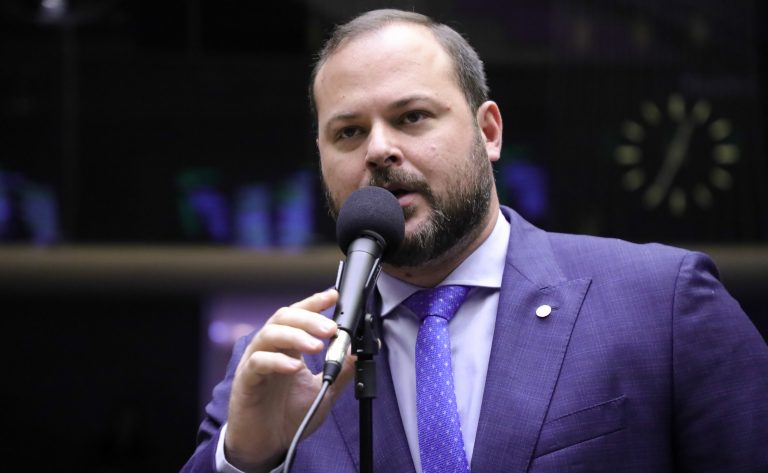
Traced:
[[673, 303], [675, 455], [684, 472], [768, 472], [768, 346], [720, 283], [688, 253]]

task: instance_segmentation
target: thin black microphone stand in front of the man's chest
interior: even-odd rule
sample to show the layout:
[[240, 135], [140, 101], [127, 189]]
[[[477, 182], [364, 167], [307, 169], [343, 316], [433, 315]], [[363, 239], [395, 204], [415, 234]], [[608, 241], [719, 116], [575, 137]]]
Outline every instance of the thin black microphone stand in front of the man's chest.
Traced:
[[373, 315], [366, 312], [352, 339], [355, 362], [355, 398], [360, 407], [360, 473], [373, 473], [373, 399], [376, 397], [376, 362], [381, 341]]

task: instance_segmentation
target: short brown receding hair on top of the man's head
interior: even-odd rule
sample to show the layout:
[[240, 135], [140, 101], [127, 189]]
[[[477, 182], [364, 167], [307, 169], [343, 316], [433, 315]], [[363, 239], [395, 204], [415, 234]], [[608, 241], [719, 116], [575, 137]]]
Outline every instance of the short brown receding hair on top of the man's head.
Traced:
[[437, 42], [443, 47], [453, 61], [454, 75], [469, 109], [476, 112], [480, 105], [488, 100], [488, 84], [485, 78], [483, 61], [467, 40], [456, 30], [432, 18], [409, 11], [395, 9], [372, 10], [363, 13], [351, 21], [336, 26], [331, 36], [317, 55], [312, 75], [309, 80], [309, 105], [315, 119], [317, 107], [315, 103], [315, 80], [325, 62], [344, 42], [358, 36], [377, 31], [392, 23], [412, 23], [429, 28]]

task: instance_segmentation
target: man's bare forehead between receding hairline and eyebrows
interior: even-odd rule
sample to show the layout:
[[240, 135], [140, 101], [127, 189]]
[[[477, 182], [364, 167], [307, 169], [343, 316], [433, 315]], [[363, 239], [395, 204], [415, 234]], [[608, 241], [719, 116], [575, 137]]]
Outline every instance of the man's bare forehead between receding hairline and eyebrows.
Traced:
[[318, 119], [340, 102], [382, 95], [461, 94], [453, 61], [432, 31], [393, 23], [352, 38], [331, 54], [313, 84]]

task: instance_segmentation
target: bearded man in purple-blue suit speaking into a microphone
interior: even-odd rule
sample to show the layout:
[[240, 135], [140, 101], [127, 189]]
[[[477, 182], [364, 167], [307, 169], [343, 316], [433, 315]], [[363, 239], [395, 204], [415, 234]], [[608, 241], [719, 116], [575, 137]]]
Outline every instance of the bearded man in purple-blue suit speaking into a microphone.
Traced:
[[[460, 35], [414, 13], [364, 14], [321, 52], [311, 97], [332, 213], [375, 185], [406, 217], [370, 301], [384, 343], [375, 471], [768, 471], [768, 348], [713, 263], [547, 233], [501, 207], [501, 114]], [[448, 324], [461, 424], [451, 469], [420, 443], [418, 386], [431, 373], [416, 373], [420, 322], [407, 304], [445, 285], [471, 287]], [[320, 312], [336, 300], [310, 296], [238, 342], [184, 471], [280, 467], [320, 389], [336, 330]], [[351, 358], [291, 471], [359, 469]]]

